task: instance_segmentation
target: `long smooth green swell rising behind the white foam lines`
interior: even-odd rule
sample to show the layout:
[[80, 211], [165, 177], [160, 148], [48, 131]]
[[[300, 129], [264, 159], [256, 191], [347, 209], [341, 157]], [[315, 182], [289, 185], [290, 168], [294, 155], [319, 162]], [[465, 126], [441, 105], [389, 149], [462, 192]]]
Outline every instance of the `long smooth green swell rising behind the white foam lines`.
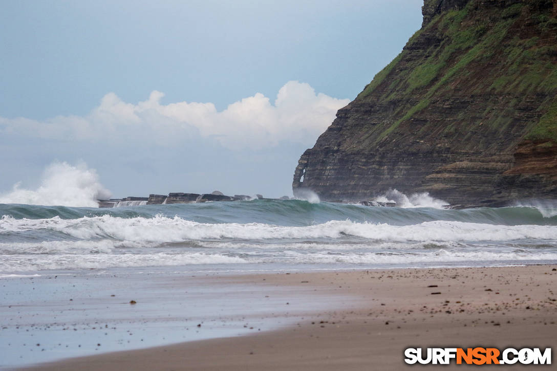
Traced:
[[[135, 202], [135, 201], [133, 201]], [[537, 207], [536, 207], [537, 206]], [[116, 218], [155, 218], [178, 216], [200, 223], [251, 223], [280, 226], [310, 226], [328, 221], [387, 223], [390, 225], [419, 224], [431, 221], [457, 221], [501, 225], [557, 225], [557, 212], [550, 203], [525, 204], [502, 208], [464, 210], [439, 208], [370, 207], [359, 204], [310, 203], [301, 200], [254, 200], [209, 202], [198, 204], [168, 204], [118, 208], [76, 208], [64, 206], [36, 206], [0, 204], [0, 216], [14, 219], [79, 219], [82, 217], [112, 216]]]

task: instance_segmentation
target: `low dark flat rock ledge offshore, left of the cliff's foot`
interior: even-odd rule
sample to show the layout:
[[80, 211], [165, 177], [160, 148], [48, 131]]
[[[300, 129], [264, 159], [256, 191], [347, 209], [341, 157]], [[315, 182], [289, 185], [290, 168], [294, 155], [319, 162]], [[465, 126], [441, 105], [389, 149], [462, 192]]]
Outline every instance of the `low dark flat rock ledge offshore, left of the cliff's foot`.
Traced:
[[222, 192], [213, 191], [211, 193], [169, 193], [168, 196], [164, 194], [149, 194], [149, 197], [126, 197], [126, 198], [111, 198], [111, 199], [98, 199], [99, 207], [124, 207], [124, 206], [140, 206], [140, 205], [161, 205], [171, 203], [201, 203], [208, 201], [249, 201], [251, 199], [290, 199], [288, 196], [281, 198], [265, 198], [261, 194], [255, 196], [247, 196], [245, 194], [234, 194], [234, 196], [226, 196]]

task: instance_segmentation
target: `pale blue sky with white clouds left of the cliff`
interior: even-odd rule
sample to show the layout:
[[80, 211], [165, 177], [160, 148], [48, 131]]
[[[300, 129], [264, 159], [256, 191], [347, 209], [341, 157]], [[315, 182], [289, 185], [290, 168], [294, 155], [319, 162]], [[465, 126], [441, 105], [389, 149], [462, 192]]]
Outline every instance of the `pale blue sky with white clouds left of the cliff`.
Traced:
[[72, 167], [113, 197], [291, 196], [300, 155], [422, 4], [1, 2], [0, 196]]

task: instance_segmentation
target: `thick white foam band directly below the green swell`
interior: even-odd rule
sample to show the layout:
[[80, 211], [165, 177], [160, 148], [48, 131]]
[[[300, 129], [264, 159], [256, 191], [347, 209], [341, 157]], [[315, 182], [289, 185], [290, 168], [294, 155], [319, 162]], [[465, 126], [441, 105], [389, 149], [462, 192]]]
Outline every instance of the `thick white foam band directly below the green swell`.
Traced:
[[80, 240], [110, 238], [117, 241], [180, 242], [234, 238], [241, 240], [341, 238], [354, 236], [381, 241], [510, 241], [525, 238], [557, 240], [557, 226], [497, 226], [452, 221], [423, 222], [409, 226], [386, 223], [330, 221], [306, 227], [263, 223], [198, 223], [178, 216], [119, 218], [110, 215], [79, 219], [3, 218], [2, 231], [51, 230]]

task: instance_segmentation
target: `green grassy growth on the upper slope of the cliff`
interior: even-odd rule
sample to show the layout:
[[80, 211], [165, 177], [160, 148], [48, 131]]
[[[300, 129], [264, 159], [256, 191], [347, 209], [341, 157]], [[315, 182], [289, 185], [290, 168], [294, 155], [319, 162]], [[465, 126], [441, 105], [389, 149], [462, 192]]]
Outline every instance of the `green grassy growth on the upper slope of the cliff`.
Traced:
[[[516, 114], [512, 110], [519, 109], [528, 96], [553, 96], [536, 108], [539, 122], [530, 123], [524, 138], [557, 143], [556, 116], [549, 113], [550, 107], [557, 104], [555, 15], [541, 12], [526, 2], [483, 13], [475, 11], [476, 8], [477, 1], [468, 1], [460, 10], [434, 16], [358, 95], [356, 101], [361, 102], [414, 101], [400, 110], [393, 124], [380, 133], [368, 133], [365, 138], [379, 143], [431, 102], [458, 89], [470, 95], [515, 96], [517, 99], [508, 107], [511, 111], [507, 111], [511, 116]], [[416, 58], [424, 36], [431, 45]], [[495, 109], [495, 102], [486, 109]], [[497, 130], [506, 121], [491, 115], [482, 125]], [[446, 129], [453, 131], [450, 125]]]

